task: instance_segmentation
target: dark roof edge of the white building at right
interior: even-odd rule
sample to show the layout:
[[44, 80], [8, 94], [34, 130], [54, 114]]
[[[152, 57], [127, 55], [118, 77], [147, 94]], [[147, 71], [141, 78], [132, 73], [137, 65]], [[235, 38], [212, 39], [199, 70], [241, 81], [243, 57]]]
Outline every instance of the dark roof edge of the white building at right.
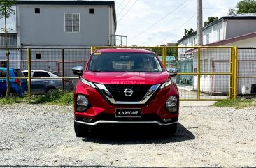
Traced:
[[[229, 16], [221, 17], [220, 19], [215, 20], [214, 22], [211, 22], [210, 24], [207, 24], [206, 26], [204, 26], [203, 30], [207, 29], [210, 26], [213, 26], [214, 24], [222, 22], [224, 20], [256, 20], [256, 13], [241, 13], [241, 14], [229, 15]], [[181, 38], [180, 40], [178, 40], [177, 43], [180, 43], [181, 41], [183, 41], [183, 40], [185, 40], [187, 38], [190, 38], [192, 36], [195, 36], [195, 35], [197, 35], [197, 31], [194, 31], [189, 36]]]

